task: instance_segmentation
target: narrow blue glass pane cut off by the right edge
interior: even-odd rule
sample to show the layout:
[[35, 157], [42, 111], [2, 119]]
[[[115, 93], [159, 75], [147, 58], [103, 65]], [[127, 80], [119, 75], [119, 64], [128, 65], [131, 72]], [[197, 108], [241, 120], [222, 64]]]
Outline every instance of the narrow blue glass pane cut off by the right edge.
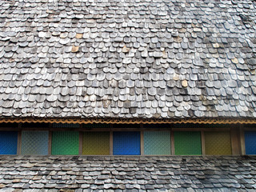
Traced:
[[245, 131], [246, 154], [256, 154], [256, 131]]

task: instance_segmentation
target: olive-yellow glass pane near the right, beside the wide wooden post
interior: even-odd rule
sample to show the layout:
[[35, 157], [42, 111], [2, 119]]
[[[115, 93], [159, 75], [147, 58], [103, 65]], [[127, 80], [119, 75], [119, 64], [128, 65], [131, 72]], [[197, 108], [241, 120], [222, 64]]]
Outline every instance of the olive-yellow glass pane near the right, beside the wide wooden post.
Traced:
[[232, 154], [229, 131], [205, 131], [206, 154]]

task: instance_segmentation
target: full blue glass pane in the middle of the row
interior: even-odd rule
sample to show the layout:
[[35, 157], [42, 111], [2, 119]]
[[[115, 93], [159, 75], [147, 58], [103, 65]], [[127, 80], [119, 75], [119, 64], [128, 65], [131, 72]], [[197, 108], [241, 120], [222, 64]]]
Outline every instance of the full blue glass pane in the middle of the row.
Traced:
[[138, 155], [141, 154], [141, 139], [138, 131], [113, 132], [113, 154]]

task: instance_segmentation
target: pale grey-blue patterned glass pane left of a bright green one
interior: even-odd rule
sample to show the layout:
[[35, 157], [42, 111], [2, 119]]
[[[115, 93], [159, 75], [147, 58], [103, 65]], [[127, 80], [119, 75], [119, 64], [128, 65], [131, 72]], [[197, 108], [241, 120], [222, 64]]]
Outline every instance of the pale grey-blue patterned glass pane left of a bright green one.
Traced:
[[46, 130], [22, 131], [22, 154], [48, 154], [48, 138]]

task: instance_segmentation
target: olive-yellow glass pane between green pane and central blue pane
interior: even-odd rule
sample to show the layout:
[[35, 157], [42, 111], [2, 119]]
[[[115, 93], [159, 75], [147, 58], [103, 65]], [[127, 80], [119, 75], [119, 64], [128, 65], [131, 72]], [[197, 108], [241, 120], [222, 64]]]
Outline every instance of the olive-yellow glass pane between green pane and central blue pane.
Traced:
[[82, 135], [82, 154], [110, 154], [110, 132], [84, 132]]

